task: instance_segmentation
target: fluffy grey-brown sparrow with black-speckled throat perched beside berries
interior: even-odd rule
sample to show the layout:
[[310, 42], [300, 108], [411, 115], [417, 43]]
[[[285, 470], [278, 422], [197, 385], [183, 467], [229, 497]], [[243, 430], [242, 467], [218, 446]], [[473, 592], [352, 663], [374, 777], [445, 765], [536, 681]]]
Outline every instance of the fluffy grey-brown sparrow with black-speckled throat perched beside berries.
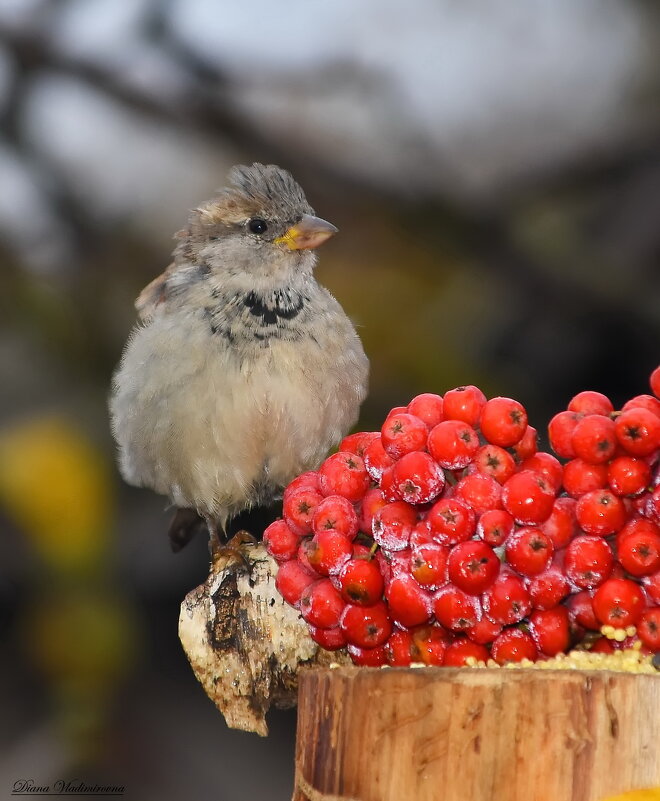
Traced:
[[120, 472], [201, 516], [212, 553], [357, 421], [369, 362], [314, 277], [336, 232], [286, 170], [238, 165], [136, 301], [109, 402]]

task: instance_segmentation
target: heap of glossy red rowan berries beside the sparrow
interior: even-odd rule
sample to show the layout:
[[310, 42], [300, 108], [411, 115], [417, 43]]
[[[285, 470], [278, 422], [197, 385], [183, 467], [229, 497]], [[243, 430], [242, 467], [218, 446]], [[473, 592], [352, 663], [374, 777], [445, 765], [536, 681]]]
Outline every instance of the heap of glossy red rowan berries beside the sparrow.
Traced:
[[548, 429], [564, 462], [515, 400], [418, 395], [287, 487], [280, 593], [360, 665], [660, 651], [660, 367], [651, 388], [576, 395]]

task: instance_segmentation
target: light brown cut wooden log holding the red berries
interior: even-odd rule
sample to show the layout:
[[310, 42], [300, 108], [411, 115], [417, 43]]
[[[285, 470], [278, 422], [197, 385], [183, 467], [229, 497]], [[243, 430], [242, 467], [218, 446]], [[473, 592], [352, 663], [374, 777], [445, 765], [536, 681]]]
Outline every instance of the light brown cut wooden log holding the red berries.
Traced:
[[601, 801], [660, 788], [660, 676], [300, 676], [293, 801]]

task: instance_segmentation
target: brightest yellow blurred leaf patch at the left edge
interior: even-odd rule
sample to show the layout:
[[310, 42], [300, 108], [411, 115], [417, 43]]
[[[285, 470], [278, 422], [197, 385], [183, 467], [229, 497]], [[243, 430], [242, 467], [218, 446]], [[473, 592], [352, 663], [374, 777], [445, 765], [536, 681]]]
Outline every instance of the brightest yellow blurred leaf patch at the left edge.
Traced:
[[51, 568], [99, 560], [112, 494], [103, 454], [73, 422], [38, 417], [0, 430], [0, 504]]

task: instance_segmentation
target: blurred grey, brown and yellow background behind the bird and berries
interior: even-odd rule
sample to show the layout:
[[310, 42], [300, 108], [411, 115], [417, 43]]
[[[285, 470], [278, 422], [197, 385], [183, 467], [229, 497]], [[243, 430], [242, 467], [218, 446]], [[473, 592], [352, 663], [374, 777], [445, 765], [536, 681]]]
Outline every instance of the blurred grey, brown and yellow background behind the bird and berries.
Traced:
[[295, 714], [229, 731], [177, 639], [205, 544], [124, 486], [133, 300], [236, 162], [340, 235], [361, 427], [475, 383], [543, 430], [660, 362], [660, 7], [644, 0], [0, 0], [0, 797], [290, 797]]

